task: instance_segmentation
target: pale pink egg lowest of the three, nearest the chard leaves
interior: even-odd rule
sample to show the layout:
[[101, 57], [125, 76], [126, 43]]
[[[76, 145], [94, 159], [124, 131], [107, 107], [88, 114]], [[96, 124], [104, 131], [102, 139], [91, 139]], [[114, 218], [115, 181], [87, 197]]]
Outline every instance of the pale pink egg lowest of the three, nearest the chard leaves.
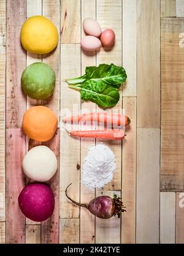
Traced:
[[94, 50], [99, 50], [101, 47], [101, 41], [94, 36], [85, 36], [81, 42], [81, 47], [87, 52], [93, 52]]

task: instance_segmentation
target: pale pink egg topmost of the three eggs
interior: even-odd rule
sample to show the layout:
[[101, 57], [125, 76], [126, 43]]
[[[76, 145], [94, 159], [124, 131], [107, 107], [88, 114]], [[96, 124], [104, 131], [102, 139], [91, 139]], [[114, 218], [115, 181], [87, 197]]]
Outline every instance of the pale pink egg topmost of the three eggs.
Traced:
[[90, 36], [99, 37], [102, 33], [101, 26], [93, 18], [85, 18], [83, 21], [83, 30]]

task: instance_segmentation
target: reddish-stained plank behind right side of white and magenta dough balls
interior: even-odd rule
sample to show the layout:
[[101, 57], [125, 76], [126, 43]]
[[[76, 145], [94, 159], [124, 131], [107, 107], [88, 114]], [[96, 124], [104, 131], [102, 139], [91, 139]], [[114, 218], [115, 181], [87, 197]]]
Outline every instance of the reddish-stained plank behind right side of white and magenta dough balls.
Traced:
[[58, 170], [54, 177], [47, 182], [55, 195], [55, 210], [52, 217], [42, 222], [41, 230], [42, 244], [57, 244], [59, 242], [59, 129], [56, 130], [56, 134], [52, 140], [48, 142], [39, 143], [34, 140], [29, 140], [29, 150], [38, 145], [48, 146], [56, 154], [58, 159]]

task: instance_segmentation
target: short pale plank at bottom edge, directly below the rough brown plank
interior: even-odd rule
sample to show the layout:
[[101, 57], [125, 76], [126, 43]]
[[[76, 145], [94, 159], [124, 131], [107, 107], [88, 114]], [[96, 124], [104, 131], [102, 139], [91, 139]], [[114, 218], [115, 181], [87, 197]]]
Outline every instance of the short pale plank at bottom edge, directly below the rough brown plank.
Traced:
[[160, 193], [160, 243], [175, 244], [175, 193]]

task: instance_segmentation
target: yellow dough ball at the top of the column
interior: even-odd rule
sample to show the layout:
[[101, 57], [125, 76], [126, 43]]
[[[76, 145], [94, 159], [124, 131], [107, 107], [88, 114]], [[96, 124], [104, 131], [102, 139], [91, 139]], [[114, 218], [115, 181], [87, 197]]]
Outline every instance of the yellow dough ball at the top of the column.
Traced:
[[56, 26], [43, 16], [33, 16], [23, 23], [20, 32], [22, 46], [33, 54], [48, 54], [58, 44]]

